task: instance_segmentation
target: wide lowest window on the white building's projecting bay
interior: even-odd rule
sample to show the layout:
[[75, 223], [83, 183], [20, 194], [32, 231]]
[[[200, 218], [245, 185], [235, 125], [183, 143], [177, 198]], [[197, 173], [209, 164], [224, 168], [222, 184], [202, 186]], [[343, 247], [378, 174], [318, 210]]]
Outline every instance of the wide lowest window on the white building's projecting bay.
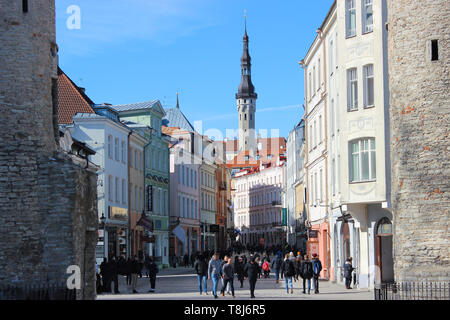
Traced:
[[375, 180], [375, 139], [350, 142], [350, 153], [350, 182]]

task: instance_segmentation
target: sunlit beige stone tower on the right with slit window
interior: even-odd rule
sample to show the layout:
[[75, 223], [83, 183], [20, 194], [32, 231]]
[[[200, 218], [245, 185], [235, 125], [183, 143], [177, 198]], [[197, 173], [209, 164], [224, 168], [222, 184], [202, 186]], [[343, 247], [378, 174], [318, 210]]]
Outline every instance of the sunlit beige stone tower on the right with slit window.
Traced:
[[388, 16], [395, 279], [449, 281], [450, 5], [388, 0]]

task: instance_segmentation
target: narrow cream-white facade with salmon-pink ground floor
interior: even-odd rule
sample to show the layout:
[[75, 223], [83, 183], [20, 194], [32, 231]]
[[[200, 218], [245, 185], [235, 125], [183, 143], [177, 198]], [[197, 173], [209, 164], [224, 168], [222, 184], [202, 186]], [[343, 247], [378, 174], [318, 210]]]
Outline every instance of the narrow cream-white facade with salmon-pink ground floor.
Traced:
[[328, 208], [326, 45], [323, 30], [301, 62], [305, 72], [306, 185], [308, 189], [307, 252], [322, 261], [321, 278], [330, 277], [330, 227]]

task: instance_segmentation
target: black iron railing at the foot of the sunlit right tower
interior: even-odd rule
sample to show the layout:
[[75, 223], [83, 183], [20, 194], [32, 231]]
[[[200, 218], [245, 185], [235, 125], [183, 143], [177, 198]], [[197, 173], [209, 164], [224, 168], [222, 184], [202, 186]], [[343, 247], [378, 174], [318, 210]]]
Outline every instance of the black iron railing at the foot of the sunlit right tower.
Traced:
[[449, 282], [392, 282], [375, 286], [375, 300], [450, 300]]

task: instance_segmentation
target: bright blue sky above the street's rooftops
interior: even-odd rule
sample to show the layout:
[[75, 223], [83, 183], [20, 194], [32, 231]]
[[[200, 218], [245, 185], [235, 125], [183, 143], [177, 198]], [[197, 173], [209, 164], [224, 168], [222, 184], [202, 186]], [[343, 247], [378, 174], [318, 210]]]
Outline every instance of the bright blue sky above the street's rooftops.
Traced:
[[[304, 57], [332, 0], [57, 0], [61, 68], [96, 103], [159, 99], [203, 130], [238, 127], [244, 9], [258, 93], [256, 129], [280, 136], [303, 116]], [[67, 8], [81, 10], [68, 29]]]

